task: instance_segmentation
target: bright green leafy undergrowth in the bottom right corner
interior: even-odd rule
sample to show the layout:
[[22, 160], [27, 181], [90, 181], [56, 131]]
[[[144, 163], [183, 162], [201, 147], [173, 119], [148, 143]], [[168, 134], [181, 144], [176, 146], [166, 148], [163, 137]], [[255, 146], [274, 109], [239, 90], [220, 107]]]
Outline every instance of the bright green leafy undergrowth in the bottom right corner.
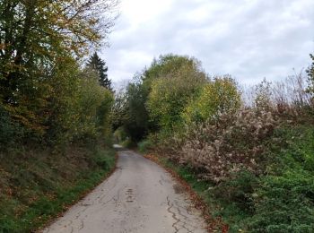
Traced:
[[269, 175], [261, 177], [249, 229], [259, 232], [314, 231], [314, 127], [282, 126], [271, 150]]

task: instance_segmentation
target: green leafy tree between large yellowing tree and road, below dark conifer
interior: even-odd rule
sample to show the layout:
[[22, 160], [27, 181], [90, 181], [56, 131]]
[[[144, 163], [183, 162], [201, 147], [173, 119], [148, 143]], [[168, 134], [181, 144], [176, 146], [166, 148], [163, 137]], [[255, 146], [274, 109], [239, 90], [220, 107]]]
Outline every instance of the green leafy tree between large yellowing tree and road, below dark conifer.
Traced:
[[97, 74], [82, 70], [72, 57], [52, 70], [50, 86], [57, 95], [49, 99], [49, 142], [61, 145], [82, 138], [108, 138], [113, 95], [99, 85]]

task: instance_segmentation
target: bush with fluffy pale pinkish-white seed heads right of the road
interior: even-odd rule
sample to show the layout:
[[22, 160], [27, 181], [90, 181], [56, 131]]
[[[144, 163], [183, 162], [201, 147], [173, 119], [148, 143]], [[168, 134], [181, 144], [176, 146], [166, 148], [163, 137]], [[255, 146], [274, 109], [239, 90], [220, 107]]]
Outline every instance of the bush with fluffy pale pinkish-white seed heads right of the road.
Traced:
[[263, 152], [277, 122], [270, 111], [225, 113], [216, 121], [191, 126], [183, 139], [173, 138], [171, 159], [190, 164], [214, 182], [242, 169], [260, 174], [266, 160]]

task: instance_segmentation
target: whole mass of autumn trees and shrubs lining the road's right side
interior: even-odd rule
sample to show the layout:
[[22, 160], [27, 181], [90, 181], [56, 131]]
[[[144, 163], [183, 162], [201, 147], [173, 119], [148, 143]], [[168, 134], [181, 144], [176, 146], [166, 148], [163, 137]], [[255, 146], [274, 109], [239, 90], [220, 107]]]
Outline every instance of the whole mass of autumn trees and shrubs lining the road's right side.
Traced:
[[196, 189], [206, 184], [202, 196], [231, 232], [312, 232], [312, 70], [240, 88], [196, 58], [161, 56], [129, 84], [136, 95], [125, 95], [126, 118], [137, 117], [128, 101], [138, 99], [150, 126], [133, 137], [122, 121], [119, 133], [197, 177]]

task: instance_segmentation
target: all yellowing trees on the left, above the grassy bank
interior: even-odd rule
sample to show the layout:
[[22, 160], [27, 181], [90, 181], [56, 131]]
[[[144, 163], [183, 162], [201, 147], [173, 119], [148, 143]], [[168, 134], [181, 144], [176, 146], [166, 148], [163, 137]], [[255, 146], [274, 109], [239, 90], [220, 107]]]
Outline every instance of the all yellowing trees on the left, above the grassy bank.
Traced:
[[109, 127], [103, 118], [109, 117], [113, 97], [97, 84], [98, 73], [83, 68], [83, 56], [104, 42], [116, 5], [1, 1], [0, 129], [13, 136], [3, 137], [1, 151], [11, 141], [66, 144], [95, 138]]

